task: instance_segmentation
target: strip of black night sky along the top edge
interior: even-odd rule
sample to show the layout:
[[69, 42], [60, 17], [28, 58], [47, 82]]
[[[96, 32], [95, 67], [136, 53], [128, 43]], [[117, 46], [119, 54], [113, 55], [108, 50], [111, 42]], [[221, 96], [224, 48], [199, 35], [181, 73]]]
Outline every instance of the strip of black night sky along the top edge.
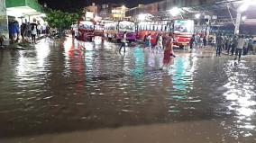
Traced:
[[160, 0], [38, 0], [41, 4], [46, 3], [52, 9], [61, 9], [66, 11], [74, 11], [88, 4], [106, 4], [114, 3], [124, 4], [128, 7], [133, 7], [138, 4], [149, 4]]

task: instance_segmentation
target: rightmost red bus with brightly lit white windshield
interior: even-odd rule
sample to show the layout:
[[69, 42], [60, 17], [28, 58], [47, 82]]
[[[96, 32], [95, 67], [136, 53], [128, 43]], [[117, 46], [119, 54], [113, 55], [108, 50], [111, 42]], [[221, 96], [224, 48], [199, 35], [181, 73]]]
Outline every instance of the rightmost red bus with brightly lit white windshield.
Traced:
[[151, 43], [155, 46], [158, 33], [163, 37], [169, 32], [174, 34], [175, 46], [184, 48], [189, 45], [189, 41], [194, 33], [194, 21], [192, 20], [174, 20], [174, 21], [156, 21], [139, 22], [137, 25], [137, 39], [144, 40], [145, 36], [151, 33]]

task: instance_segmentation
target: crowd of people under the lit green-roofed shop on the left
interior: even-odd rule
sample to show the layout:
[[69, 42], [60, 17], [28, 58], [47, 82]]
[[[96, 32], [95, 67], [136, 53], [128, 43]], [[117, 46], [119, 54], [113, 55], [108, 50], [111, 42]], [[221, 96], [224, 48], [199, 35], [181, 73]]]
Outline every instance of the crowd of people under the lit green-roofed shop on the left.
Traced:
[[41, 24], [37, 22], [35, 19], [33, 22], [23, 22], [19, 25], [19, 22], [13, 20], [9, 22], [9, 38], [12, 43], [18, 42], [20, 37], [22, 37], [22, 41], [30, 42], [32, 40], [32, 44], [36, 43], [36, 37], [40, 37], [41, 34], [49, 34], [50, 27], [46, 24]]

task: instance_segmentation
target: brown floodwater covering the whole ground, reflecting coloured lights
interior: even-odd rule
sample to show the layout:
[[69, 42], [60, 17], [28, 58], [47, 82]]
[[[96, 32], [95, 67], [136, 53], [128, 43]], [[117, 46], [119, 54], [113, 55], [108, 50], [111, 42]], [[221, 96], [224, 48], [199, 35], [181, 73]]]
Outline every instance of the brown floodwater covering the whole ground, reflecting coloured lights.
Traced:
[[256, 57], [41, 40], [0, 50], [0, 142], [256, 142]]

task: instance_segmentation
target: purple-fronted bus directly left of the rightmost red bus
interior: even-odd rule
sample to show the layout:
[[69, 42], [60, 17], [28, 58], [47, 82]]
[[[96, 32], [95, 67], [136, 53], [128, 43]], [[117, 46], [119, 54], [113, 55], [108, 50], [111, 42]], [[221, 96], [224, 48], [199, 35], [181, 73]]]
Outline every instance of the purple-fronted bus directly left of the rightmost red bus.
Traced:
[[128, 40], [129, 42], [136, 40], [135, 22], [106, 22], [104, 29], [104, 36], [108, 40], [116, 40], [117, 42], [121, 42], [124, 31], [127, 32], [126, 40]]

